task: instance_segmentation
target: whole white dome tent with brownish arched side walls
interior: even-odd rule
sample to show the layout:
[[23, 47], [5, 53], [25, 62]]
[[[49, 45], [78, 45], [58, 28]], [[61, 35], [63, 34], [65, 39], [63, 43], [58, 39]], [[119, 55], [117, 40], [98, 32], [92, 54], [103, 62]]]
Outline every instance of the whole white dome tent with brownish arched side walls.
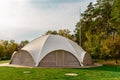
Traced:
[[15, 51], [10, 64], [35, 67], [80, 67], [92, 65], [91, 56], [75, 42], [59, 36], [45, 35]]

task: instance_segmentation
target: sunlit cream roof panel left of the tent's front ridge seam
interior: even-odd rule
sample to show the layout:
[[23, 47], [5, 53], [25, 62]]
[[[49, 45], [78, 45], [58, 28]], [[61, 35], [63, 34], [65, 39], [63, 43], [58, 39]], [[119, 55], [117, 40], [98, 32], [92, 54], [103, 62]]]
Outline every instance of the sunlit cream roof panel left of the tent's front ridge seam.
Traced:
[[28, 51], [30, 55], [33, 57], [35, 63], [38, 63], [38, 57], [41, 54], [40, 51], [43, 48], [43, 45], [48, 37], [49, 36], [47, 35], [47, 36], [36, 38], [32, 40], [29, 44], [24, 46], [22, 50]]

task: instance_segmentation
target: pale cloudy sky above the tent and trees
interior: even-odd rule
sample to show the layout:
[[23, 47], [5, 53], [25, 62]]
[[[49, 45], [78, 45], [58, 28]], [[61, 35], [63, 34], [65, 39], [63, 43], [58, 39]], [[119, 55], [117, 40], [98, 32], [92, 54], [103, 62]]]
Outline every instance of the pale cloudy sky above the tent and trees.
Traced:
[[0, 40], [33, 40], [48, 30], [74, 31], [96, 0], [0, 0]]

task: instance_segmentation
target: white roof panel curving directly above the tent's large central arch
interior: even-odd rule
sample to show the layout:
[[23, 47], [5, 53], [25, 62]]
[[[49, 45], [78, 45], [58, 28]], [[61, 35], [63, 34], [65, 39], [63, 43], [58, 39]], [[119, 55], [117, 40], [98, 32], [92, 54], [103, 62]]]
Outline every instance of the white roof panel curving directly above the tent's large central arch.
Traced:
[[38, 64], [39, 64], [39, 61], [41, 61], [48, 53], [55, 50], [69, 51], [70, 53], [72, 53], [74, 56], [77, 57], [79, 62], [81, 62], [82, 60], [80, 59], [81, 52], [77, 53], [67, 38], [64, 38], [59, 35], [49, 35], [40, 52], [40, 55], [38, 58]]

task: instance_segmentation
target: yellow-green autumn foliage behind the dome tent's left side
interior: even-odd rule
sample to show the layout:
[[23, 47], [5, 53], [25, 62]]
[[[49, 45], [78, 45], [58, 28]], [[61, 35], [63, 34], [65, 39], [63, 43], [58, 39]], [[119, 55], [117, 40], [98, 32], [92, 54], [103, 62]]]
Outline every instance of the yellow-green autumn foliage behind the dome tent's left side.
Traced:
[[[1, 40], [0, 41], [0, 60], [10, 59], [13, 52], [19, 50], [18, 48], [22, 48], [28, 43], [27, 40], [21, 41], [20, 45], [16, 43], [14, 40]], [[22, 45], [22, 46], [21, 46]]]

